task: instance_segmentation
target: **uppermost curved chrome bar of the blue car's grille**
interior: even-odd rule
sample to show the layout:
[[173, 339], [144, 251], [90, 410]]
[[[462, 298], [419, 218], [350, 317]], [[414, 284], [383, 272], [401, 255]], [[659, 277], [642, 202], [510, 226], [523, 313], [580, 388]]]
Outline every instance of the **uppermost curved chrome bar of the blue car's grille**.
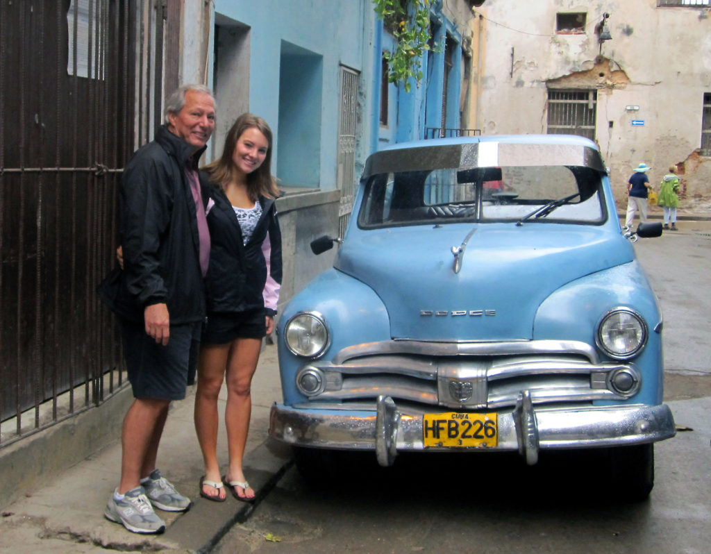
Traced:
[[429, 342], [395, 339], [346, 346], [333, 356], [333, 365], [352, 358], [378, 354], [414, 354], [421, 356], [530, 356], [532, 354], [568, 354], [587, 358], [598, 364], [595, 348], [582, 341], [504, 341], [504, 342]]

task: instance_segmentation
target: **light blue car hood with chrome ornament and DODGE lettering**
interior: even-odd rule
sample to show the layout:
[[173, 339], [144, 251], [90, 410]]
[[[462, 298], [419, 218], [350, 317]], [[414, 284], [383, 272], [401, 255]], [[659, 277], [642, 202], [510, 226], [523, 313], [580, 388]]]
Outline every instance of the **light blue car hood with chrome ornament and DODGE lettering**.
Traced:
[[[454, 272], [452, 247], [472, 230]], [[562, 285], [633, 259], [619, 230], [456, 224], [358, 230], [335, 267], [383, 300], [393, 339], [506, 341], [533, 339], [538, 306]]]

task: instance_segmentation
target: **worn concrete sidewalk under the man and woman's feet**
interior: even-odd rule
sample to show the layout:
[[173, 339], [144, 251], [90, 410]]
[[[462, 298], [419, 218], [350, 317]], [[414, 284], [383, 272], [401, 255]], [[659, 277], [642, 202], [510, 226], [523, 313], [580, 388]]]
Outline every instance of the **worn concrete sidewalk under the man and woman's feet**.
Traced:
[[[43, 488], [28, 491], [24, 498], [6, 506], [0, 518], [0, 552], [208, 552], [230, 526], [245, 521], [291, 464], [289, 448], [267, 438], [269, 407], [282, 398], [277, 347], [265, 346], [252, 382], [252, 420], [245, 474], [257, 492], [255, 504], [237, 501], [230, 494], [223, 503], [199, 496], [198, 481], [203, 474], [203, 463], [193, 427], [194, 395], [195, 387], [188, 388], [187, 398], [171, 405], [161, 441], [161, 472], [178, 491], [193, 500], [193, 506], [186, 513], [156, 510], [166, 521], [165, 533], [138, 535], [104, 518], [105, 505], [118, 484], [120, 472], [121, 445], [114, 442]], [[223, 387], [218, 440], [218, 457], [223, 468], [227, 464], [222, 419], [225, 399]]]

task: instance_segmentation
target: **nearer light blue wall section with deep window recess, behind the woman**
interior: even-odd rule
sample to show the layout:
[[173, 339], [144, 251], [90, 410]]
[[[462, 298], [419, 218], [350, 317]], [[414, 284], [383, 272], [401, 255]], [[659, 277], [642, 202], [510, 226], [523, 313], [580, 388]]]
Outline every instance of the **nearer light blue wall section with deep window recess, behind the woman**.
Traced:
[[[221, 24], [248, 28], [249, 110], [264, 117], [275, 134], [272, 169], [287, 171], [277, 173], [287, 186], [336, 188], [341, 64], [360, 72], [360, 136], [366, 139], [358, 142], [357, 159], [374, 149], [373, 105], [367, 101], [375, 35], [371, 1], [215, 0], [215, 14]], [[289, 97], [292, 93], [302, 102]], [[230, 101], [217, 100], [218, 110]], [[279, 141], [285, 137], [290, 146], [282, 151]]]

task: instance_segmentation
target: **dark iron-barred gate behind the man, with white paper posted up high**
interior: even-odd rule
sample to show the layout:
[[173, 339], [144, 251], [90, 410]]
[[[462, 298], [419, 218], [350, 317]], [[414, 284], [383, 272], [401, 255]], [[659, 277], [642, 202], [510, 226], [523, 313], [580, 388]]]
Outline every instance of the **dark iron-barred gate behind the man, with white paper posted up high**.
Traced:
[[156, 60], [179, 6], [0, 1], [0, 445], [123, 385], [95, 287], [121, 168], [160, 121], [163, 75], [177, 80]]

